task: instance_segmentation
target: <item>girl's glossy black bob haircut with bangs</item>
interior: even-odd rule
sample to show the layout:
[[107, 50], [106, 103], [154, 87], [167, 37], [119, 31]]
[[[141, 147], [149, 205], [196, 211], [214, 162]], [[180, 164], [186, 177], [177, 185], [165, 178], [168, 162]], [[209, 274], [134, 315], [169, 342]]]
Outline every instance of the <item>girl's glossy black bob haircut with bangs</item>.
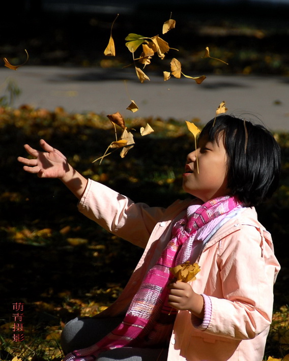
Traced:
[[227, 153], [227, 187], [247, 207], [264, 202], [278, 187], [280, 147], [260, 124], [232, 115], [219, 115], [206, 124], [199, 137], [223, 142]]

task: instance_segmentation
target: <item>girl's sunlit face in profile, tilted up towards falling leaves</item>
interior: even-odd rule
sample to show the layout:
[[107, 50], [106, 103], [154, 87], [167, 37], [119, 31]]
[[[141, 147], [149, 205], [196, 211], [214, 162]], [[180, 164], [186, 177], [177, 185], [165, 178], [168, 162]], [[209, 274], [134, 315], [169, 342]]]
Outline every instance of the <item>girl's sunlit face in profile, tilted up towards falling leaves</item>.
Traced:
[[204, 202], [230, 193], [227, 189], [227, 155], [223, 135], [219, 136], [218, 143], [210, 142], [204, 135], [199, 139], [196, 151], [187, 156], [183, 189]]

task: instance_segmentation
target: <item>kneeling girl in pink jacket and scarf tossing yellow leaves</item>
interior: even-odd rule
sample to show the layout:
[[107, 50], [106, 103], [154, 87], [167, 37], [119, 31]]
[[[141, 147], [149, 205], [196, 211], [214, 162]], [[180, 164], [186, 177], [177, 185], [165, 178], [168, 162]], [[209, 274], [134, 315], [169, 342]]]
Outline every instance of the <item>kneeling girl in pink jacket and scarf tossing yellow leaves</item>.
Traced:
[[[210, 121], [183, 174], [194, 198], [166, 209], [85, 179], [57, 149], [40, 145], [45, 152], [24, 146], [36, 158], [18, 158], [25, 171], [61, 179], [81, 213], [145, 248], [112, 306], [67, 323], [66, 361], [262, 361], [279, 264], [253, 206], [278, 184], [280, 150], [270, 132], [229, 115]], [[177, 282], [169, 267], [186, 261], [201, 271]]]

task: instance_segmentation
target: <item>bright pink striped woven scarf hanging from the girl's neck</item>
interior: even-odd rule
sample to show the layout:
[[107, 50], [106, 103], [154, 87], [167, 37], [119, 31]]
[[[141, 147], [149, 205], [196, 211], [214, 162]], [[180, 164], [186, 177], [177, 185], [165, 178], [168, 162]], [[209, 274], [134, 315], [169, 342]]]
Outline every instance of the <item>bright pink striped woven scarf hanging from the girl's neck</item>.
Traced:
[[[189, 217], [178, 221], [172, 228], [172, 239], [147, 273], [121, 324], [95, 345], [69, 353], [64, 361], [92, 361], [101, 352], [112, 348], [152, 347], [166, 343], [177, 314], [177, 310], [172, 310], [167, 303], [167, 285], [172, 278], [169, 268], [176, 265], [177, 259], [180, 260], [178, 253], [187, 239], [193, 237], [201, 227], [219, 216], [225, 216], [239, 205], [236, 197], [215, 198], [198, 206]], [[182, 259], [181, 263], [186, 260]]]

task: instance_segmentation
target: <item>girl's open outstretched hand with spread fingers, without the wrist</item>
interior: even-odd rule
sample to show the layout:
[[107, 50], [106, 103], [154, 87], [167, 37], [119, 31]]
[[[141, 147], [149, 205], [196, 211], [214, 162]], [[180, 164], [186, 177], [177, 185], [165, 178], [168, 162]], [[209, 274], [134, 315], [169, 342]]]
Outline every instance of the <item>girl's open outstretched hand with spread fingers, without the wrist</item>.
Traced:
[[69, 170], [66, 157], [45, 140], [41, 139], [39, 143], [45, 152], [24, 145], [26, 152], [35, 159], [18, 157], [18, 161], [24, 164], [23, 169], [28, 173], [36, 173], [40, 178], [63, 178]]

